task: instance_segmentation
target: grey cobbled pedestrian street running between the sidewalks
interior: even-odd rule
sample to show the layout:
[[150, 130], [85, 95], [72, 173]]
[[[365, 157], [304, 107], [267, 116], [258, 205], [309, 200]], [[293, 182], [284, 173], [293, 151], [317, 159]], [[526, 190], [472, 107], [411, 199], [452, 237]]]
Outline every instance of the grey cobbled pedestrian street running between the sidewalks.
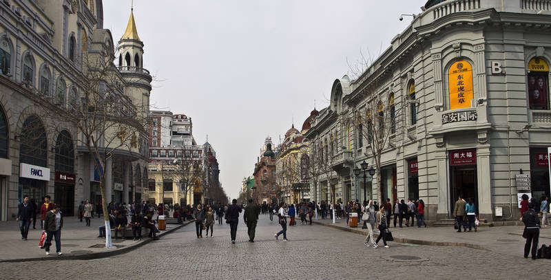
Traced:
[[[321, 225], [289, 227], [278, 241], [278, 224], [260, 216], [256, 242], [240, 223], [235, 245], [229, 226], [216, 225], [214, 238], [197, 239], [189, 224], [158, 241], [105, 259], [0, 263], [2, 279], [50, 275], [60, 279], [548, 279], [551, 261], [524, 259], [522, 247], [510, 254], [450, 246], [366, 248], [364, 237]], [[510, 237], [521, 239], [521, 237]], [[544, 240], [550, 241], [550, 240]], [[62, 239], [63, 242], [63, 239]], [[551, 243], [551, 242], [549, 242]], [[526, 274], [529, 273], [529, 274]]]

